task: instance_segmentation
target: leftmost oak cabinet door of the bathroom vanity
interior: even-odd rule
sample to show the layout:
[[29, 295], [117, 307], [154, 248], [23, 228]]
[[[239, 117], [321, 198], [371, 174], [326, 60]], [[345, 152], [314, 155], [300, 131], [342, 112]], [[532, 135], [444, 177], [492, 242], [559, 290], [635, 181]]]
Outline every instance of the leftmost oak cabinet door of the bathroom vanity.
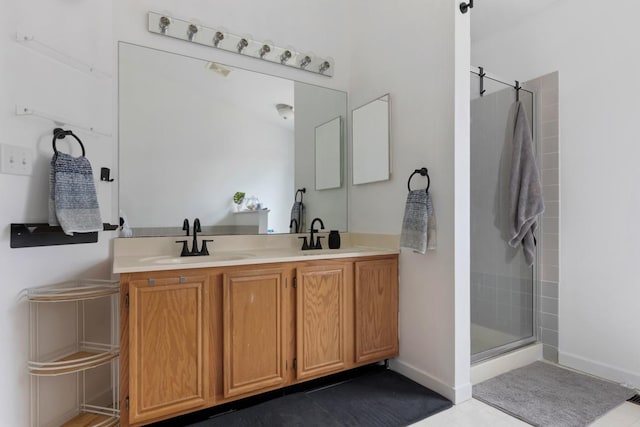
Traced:
[[192, 276], [130, 282], [130, 423], [205, 404], [207, 281]]

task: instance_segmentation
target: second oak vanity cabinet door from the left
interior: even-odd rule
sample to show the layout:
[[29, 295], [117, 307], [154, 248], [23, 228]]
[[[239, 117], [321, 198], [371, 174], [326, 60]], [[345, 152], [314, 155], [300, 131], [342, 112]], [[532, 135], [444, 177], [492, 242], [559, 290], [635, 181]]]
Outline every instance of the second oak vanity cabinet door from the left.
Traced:
[[223, 276], [224, 396], [285, 382], [283, 270], [244, 270]]

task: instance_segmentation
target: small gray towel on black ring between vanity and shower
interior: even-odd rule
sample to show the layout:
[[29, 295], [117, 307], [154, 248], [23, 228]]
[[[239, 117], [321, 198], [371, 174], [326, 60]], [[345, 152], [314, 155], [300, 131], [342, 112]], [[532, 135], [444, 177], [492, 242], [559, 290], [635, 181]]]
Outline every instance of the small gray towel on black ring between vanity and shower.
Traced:
[[402, 219], [400, 247], [421, 254], [427, 249], [436, 248], [436, 213], [428, 191], [409, 191]]

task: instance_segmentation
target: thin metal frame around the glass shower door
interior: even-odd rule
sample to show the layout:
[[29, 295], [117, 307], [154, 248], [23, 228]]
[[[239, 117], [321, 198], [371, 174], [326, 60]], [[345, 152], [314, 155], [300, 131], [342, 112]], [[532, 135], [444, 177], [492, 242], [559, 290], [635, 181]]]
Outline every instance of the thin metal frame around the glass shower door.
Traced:
[[[480, 72], [479, 72], [479, 67], [471, 67], [470, 70], [471, 74], [474, 74], [476, 77], [480, 77]], [[490, 75], [489, 73], [486, 73], [486, 71], [484, 72], [485, 78], [489, 78], [493, 81], [496, 81], [498, 83], [502, 83], [505, 86], [511, 86], [509, 83], [505, 83], [503, 80], [496, 78], [495, 76]], [[523, 88], [523, 90], [526, 90]], [[536, 96], [535, 91], [530, 91], [530, 90], [526, 90], [527, 92], [531, 93], [531, 99], [532, 99], [532, 108], [531, 108], [531, 135], [532, 135], [532, 140], [534, 143], [534, 148], [535, 148], [535, 154], [536, 154], [536, 161], [538, 162], [538, 165], [540, 165], [540, 142], [538, 141], [538, 132], [536, 129], [536, 118], [538, 116], [537, 112], [538, 112], [538, 97]], [[471, 143], [471, 139], [469, 139], [469, 143]], [[469, 163], [469, 167], [471, 167], [471, 163]], [[490, 348], [488, 350], [484, 350], [478, 353], [472, 353], [471, 354], [471, 364], [474, 365], [476, 363], [479, 362], [483, 362], [487, 359], [491, 359], [497, 356], [501, 356], [505, 353], [508, 353], [510, 351], [525, 347], [529, 344], [533, 344], [539, 341], [539, 331], [540, 331], [540, 327], [539, 327], [539, 310], [540, 310], [540, 281], [539, 279], [539, 265], [538, 265], [538, 260], [539, 258], [539, 251], [540, 251], [540, 245], [542, 242], [542, 238], [539, 237], [538, 239], [538, 244], [536, 245], [536, 251], [535, 251], [535, 257], [533, 260], [533, 265], [531, 266], [531, 281], [532, 281], [532, 288], [531, 288], [531, 292], [533, 293], [533, 297], [532, 297], [532, 335], [530, 337], [526, 337], [526, 338], [522, 338], [520, 340], [517, 341], [513, 341], [510, 343], [506, 343], [497, 347], [493, 347]], [[469, 310], [471, 310], [471, 300], [470, 300], [470, 304], [469, 304]], [[469, 318], [469, 323], [471, 323], [471, 318]], [[469, 332], [469, 340], [471, 340], [471, 332]]]

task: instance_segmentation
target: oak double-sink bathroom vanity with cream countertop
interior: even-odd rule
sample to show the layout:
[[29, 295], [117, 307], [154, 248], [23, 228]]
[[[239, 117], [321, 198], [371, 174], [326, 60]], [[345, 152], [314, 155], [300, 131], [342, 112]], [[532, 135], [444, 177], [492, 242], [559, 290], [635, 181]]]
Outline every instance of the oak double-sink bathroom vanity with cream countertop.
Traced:
[[119, 250], [129, 242], [118, 240], [122, 426], [398, 354], [397, 249], [262, 243], [187, 259]]

